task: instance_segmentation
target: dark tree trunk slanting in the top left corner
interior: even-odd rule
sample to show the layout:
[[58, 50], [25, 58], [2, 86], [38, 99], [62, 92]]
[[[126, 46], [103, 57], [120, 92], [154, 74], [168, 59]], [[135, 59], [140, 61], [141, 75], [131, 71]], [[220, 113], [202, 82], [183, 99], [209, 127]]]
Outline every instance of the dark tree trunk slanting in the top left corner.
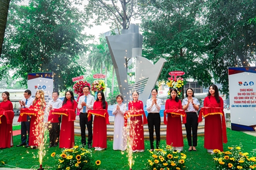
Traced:
[[5, 28], [6, 28], [10, 1], [11, 0], [0, 1], [0, 58], [2, 54], [2, 45], [4, 43]]

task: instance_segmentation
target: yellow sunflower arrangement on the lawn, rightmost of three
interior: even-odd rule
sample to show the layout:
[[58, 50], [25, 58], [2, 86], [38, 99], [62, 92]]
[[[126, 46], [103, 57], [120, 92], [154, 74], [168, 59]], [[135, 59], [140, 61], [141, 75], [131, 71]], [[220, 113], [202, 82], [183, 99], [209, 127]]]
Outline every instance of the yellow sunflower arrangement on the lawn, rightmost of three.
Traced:
[[[228, 151], [221, 152], [214, 150], [215, 169], [256, 169], [256, 152], [252, 151], [250, 155], [242, 152], [242, 146], [228, 147]], [[253, 156], [254, 155], [254, 156]]]

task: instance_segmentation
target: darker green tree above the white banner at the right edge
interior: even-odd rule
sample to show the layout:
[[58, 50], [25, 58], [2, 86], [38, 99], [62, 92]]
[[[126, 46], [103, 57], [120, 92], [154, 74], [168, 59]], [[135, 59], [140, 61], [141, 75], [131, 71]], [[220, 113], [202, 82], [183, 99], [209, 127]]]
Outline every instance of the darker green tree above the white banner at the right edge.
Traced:
[[255, 63], [255, 1], [207, 1], [205, 30], [208, 30], [207, 62], [216, 82], [228, 93], [228, 67], [249, 66]]

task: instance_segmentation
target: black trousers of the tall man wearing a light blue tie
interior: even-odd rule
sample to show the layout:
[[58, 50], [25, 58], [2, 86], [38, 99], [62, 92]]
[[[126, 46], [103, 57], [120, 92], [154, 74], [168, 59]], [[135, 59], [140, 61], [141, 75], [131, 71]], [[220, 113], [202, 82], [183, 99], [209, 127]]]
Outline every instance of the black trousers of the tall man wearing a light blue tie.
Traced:
[[88, 144], [92, 144], [93, 140], [93, 115], [91, 115], [91, 120], [88, 121], [87, 113], [81, 113], [79, 115], [79, 124], [81, 129], [81, 142], [86, 145], [86, 126], [88, 130]]

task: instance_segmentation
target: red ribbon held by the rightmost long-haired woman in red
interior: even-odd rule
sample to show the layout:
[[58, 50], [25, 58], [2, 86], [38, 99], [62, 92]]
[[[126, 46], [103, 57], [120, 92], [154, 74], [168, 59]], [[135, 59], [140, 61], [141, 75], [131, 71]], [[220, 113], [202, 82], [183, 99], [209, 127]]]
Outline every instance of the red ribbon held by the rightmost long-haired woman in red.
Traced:
[[223, 142], [227, 143], [227, 129], [226, 121], [224, 116], [224, 111], [220, 107], [202, 107], [198, 117], [198, 123], [202, 122], [202, 116], [206, 117], [208, 115], [221, 114], [222, 115], [222, 137]]

